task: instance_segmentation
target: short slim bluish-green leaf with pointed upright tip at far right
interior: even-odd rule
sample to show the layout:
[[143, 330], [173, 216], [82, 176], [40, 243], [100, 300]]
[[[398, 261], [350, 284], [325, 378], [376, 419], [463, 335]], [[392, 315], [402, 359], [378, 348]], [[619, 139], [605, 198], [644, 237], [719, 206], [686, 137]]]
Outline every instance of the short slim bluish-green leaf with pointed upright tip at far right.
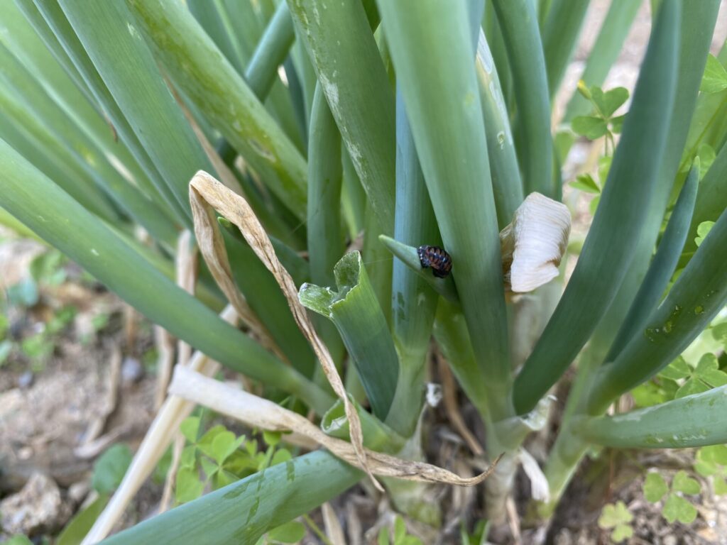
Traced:
[[626, 346], [634, 334], [643, 331], [648, 315], [659, 303], [664, 290], [672, 278], [675, 267], [679, 261], [681, 251], [686, 241], [686, 235], [694, 212], [696, 200], [696, 187], [699, 183], [699, 160], [691, 167], [686, 183], [682, 188], [679, 199], [672, 211], [659, 249], [648, 267], [641, 287], [636, 294], [626, 318], [622, 322], [614, 344], [606, 356], [606, 361], [613, 361], [616, 355]]

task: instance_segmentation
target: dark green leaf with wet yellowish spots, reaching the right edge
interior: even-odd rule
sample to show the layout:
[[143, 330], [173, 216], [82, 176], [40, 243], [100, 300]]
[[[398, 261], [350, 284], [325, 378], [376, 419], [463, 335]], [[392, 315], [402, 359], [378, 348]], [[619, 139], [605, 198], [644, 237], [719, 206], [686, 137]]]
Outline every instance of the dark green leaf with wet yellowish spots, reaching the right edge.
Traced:
[[654, 376], [704, 331], [727, 301], [727, 211], [704, 238], [666, 299], [651, 312], [613, 363], [594, 379], [588, 411], [598, 414], [617, 395]]

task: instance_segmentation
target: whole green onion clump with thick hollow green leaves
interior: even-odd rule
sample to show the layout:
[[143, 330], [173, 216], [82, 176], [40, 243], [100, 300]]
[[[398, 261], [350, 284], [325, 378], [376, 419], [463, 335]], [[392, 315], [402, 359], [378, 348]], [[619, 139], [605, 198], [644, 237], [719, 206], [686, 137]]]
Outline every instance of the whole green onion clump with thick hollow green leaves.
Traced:
[[[724, 321], [727, 301], [727, 49], [710, 55], [720, 2], [651, 4], [628, 111], [608, 126], [619, 137], [590, 117], [616, 146], [575, 268], [529, 294], [511, 291], [500, 232], [533, 193], [563, 201], [571, 122], [595, 105], [615, 123], [600, 87], [637, 0], [612, 2], [580, 92], [563, 81], [587, 0], [7, 0], [0, 220], [348, 440], [341, 400], [237, 227], [219, 218], [233, 279], [279, 350], [220, 318], [227, 301], [204, 263], [195, 295], [174, 283], [177, 237], [194, 227], [190, 179], [226, 180], [294, 278], [367, 448], [425, 460], [433, 347], [446, 359], [486, 459], [504, 454], [481, 485], [494, 524], [574, 368], [539, 460], [547, 517], [595, 447], [727, 442], [727, 386], [609, 411]], [[422, 268], [420, 246], [446, 251], [451, 275]], [[301, 449], [108, 543], [255, 544], [366, 478]], [[431, 485], [382, 483], [396, 509], [441, 523], [422, 501]]]

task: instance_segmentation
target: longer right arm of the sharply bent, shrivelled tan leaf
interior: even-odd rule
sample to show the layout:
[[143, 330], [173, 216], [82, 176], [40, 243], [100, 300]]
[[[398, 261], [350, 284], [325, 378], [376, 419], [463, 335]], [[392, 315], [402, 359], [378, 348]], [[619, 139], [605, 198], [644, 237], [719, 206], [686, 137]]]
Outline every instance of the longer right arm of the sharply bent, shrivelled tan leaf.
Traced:
[[265, 233], [265, 229], [263, 229], [260, 221], [255, 216], [254, 211], [252, 211], [252, 208], [250, 208], [243, 197], [237, 195], [228, 189], [228, 187], [225, 187], [225, 185], [222, 185], [221, 182], [217, 181], [217, 179], [205, 171], [198, 171], [190, 181], [190, 200], [197, 197], [204, 200], [208, 207], [211, 206], [230, 222], [233, 222], [257, 257], [260, 258], [260, 261], [270, 270], [270, 273], [273, 273], [288, 301], [295, 322], [298, 324], [302, 334], [310, 342], [313, 351], [316, 352], [318, 361], [321, 362], [321, 367], [326, 374], [329, 384], [331, 384], [336, 395], [343, 400], [346, 416], [349, 421], [351, 444], [356, 453], [356, 458], [361, 467], [366, 469], [366, 473], [369, 474], [369, 477], [377, 485], [377, 488], [383, 490], [369, 471], [368, 464], [366, 464], [364, 434], [356, 408], [353, 407], [353, 403], [350, 403], [348, 399], [348, 394], [343, 387], [341, 377], [336, 370], [336, 366], [326, 345], [318, 337], [318, 334], [316, 334], [316, 330], [313, 328], [313, 323], [310, 321], [310, 318], [308, 318], [305, 307], [298, 301], [298, 291], [293, 279], [278, 260], [275, 249], [273, 249], [273, 244], [270, 243], [270, 239], [267, 233]]

